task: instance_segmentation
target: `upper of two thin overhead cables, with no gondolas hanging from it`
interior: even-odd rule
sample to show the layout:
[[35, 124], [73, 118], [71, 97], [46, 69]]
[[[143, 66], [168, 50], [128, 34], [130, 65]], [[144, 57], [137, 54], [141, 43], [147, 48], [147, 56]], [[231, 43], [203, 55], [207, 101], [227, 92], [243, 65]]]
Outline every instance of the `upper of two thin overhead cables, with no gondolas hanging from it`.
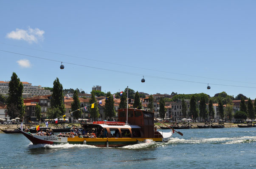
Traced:
[[248, 83], [256, 84], [256, 83], [253, 83], [253, 82], [242, 82], [242, 81], [235, 81], [235, 80], [228, 80], [228, 79], [218, 79], [218, 78], [205, 77], [205, 76], [181, 74], [181, 73], [169, 72], [169, 71], [160, 71], [160, 70], [156, 70], [156, 69], [142, 68], [142, 67], [137, 67], [137, 66], [132, 66], [132, 65], [124, 65], [124, 64], [119, 64], [119, 63], [111, 63], [111, 62], [106, 62], [106, 61], [102, 61], [102, 60], [95, 60], [95, 59], [90, 59], [90, 58], [85, 58], [85, 57], [78, 57], [78, 56], [74, 56], [74, 55], [66, 55], [66, 54], [62, 54], [62, 53], [58, 53], [58, 52], [50, 52], [50, 51], [34, 49], [34, 48], [29, 48], [29, 47], [24, 47], [24, 46], [18, 46], [18, 45], [13, 45], [13, 44], [6, 44], [6, 43], [2, 43], [2, 42], [1, 42], [1, 44], [5, 44], [5, 45], [9, 45], [9, 46], [16, 46], [16, 47], [25, 48], [25, 49], [36, 50], [36, 51], [40, 51], [40, 52], [47, 52], [47, 53], [56, 54], [56, 55], [62, 55], [62, 56], [67, 56], [67, 57], [75, 57], [75, 58], [84, 59], [84, 60], [91, 60], [91, 61], [96, 61], [96, 62], [101, 62], [101, 63], [108, 63], [108, 64], [113, 64], [113, 65], [127, 66], [127, 67], [130, 67], [130, 68], [139, 68], [139, 69], [149, 70], [149, 71], [158, 71], [158, 72], [169, 73], [169, 74], [177, 74], [177, 75], [199, 77], [199, 78], [213, 79], [213, 80], [222, 80], [222, 81], [228, 81], [228, 82], [239, 82], [239, 83], [247, 83], [247, 84]]

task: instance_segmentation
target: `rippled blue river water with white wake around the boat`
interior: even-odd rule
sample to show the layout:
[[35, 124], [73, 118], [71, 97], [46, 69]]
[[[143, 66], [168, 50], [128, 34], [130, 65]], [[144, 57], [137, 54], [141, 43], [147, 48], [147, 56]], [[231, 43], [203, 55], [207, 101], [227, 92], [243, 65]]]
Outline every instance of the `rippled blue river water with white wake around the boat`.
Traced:
[[0, 134], [0, 168], [256, 168], [256, 128], [179, 131], [184, 135], [175, 133], [169, 142], [147, 140], [121, 148], [73, 144], [33, 145], [22, 134]]

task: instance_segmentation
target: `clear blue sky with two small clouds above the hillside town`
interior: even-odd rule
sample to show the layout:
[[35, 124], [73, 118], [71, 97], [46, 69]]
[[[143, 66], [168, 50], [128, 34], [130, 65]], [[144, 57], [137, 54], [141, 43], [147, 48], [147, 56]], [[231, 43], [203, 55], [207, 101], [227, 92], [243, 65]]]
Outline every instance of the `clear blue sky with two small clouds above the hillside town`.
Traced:
[[[256, 98], [255, 0], [0, 1], [0, 81]], [[60, 69], [62, 64], [64, 69]], [[141, 82], [143, 78], [145, 83]], [[207, 85], [211, 86], [207, 90]]]

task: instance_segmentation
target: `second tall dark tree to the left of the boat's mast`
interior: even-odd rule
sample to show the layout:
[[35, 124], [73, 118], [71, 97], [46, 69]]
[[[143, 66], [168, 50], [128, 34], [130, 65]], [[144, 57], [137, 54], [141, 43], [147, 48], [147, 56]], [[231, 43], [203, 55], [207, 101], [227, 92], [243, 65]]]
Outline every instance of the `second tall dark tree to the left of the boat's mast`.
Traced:
[[114, 106], [114, 98], [113, 95], [108, 92], [106, 97], [108, 97], [105, 101], [105, 106], [104, 106], [104, 112], [106, 117], [110, 117], [110, 120], [112, 117], [115, 117], [115, 106]]

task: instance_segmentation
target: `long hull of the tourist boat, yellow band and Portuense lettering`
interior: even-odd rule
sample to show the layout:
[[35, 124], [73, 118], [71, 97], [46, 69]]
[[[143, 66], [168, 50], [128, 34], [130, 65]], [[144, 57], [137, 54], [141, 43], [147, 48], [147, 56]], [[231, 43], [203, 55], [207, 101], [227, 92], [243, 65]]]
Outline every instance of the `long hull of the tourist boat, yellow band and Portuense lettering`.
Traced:
[[74, 138], [58, 137], [53, 136], [38, 136], [36, 134], [28, 134], [27, 132], [21, 131], [25, 137], [27, 137], [33, 144], [87, 144], [96, 147], [122, 147], [125, 145], [137, 144], [143, 142], [146, 139], [151, 139], [155, 142], [166, 142], [171, 139], [172, 132], [166, 135], [165, 138]]

